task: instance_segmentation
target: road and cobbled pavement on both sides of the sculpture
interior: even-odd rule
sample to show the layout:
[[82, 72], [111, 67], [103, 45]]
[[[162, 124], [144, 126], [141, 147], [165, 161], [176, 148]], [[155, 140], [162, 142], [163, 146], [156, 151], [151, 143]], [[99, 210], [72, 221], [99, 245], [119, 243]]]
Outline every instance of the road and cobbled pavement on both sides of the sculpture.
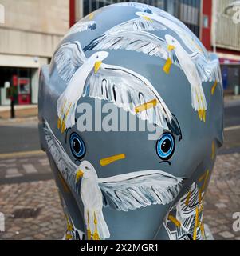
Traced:
[[[37, 118], [0, 122], [0, 239], [61, 239], [65, 222], [48, 159], [38, 142]], [[225, 143], [205, 200], [205, 223], [215, 239], [240, 240], [240, 104], [225, 109]]]

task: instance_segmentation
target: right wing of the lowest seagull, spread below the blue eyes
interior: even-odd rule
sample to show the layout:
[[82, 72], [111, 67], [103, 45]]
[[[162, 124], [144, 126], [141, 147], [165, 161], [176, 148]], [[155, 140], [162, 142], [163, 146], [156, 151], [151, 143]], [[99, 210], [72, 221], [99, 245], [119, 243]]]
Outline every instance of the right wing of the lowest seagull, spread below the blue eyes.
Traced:
[[160, 170], [142, 170], [98, 181], [104, 206], [123, 211], [168, 204], [175, 200], [183, 186], [183, 178]]

